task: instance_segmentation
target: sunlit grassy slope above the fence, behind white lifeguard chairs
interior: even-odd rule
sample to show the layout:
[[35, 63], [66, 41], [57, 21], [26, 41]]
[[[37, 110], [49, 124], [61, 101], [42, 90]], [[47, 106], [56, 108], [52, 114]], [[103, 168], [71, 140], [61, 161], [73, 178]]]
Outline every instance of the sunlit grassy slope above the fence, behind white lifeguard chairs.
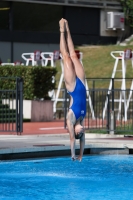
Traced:
[[[111, 78], [114, 68], [115, 59], [110, 55], [111, 51], [124, 51], [127, 48], [131, 49], [131, 45], [126, 47], [119, 45], [108, 46], [79, 46], [75, 49], [80, 50], [83, 53], [83, 65], [86, 74], [86, 78]], [[121, 63], [118, 65], [118, 69], [121, 69]], [[57, 64], [57, 76], [56, 80], [59, 80], [61, 68], [59, 63]], [[127, 61], [126, 78], [133, 77], [133, 69], [131, 60]], [[121, 73], [116, 74], [116, 78], [121, 78]]]

